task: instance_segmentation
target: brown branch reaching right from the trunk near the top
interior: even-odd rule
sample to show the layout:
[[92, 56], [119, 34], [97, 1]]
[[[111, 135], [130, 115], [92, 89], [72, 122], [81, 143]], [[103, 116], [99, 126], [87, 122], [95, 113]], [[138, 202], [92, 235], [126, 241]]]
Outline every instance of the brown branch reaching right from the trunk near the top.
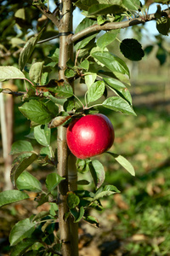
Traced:
[[[170, 15], [170, 10], [165, 9], [161, 12], [162, 16], [165, 15]], [[81, 32], [77, 32], [74, 35], [70, 35], [68, 37], [68, 44], [73, 44], [80, 40], [83, 37], [87, 37], [89, 34], [94, 33], [94, 32], [99, 32], [101, 30], [104, 31], [109, 31], [109, 30], [115, 30], [119, 28], [126, 28], [128, 26], [134, 26], [138, 24], [144, 24], [145, 22], [148, 22], [150, 20], [157, 20], [156, 19], [156, 14], [151, 14], [151, 15], [145, 15], [141, 16], [139, 18], [134, 18], [131, 20], [126, 20], [126, 21], [120, 21], [120, 22], [108, 22], [105, 23], [104, 25], [99, 25], [99, 24], [94, 24], [92, 26], [88, 26], [87, 28], [83, 29]]]

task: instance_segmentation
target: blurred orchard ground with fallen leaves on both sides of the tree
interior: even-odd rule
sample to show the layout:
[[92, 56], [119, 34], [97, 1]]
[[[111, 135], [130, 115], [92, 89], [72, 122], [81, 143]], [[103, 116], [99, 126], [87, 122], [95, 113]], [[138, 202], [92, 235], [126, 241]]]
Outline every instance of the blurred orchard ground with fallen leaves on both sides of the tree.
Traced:
[[[103, 212], [91, 212], [99, 219], [99, 229], [82, 222], [79, 229], [80, 256], [170, 255], [169, 64], [167, 61], [165, 67], [158, 67], [155, 62], [156, 68], [152, 64], [150, 67], [150, 63], [139, 62], [138, 79], [134, 79], [132, 73], [130, 91], [137, 117], [103, 111], [115, 128], [116, 138], [111, 151], [122, 154], [133, 164], [136, 177], [125, 172], [109, 154], [96, 157], [105, 166], [105, 183], [115, 185], [122, 193], [102, 201]], [[17, 140], [29, 131], [25, 126], [27, 120], [20, 113], [15, 114], [14, 137]], [[55, 131], [53, 136], [56, 136]], [[2, 191], [2, 151], [0, 161]], [[36, 171], [35, 168], [29, 171], [42, 184], [47, 174], [54, 172], [47, 166], [41, 170], [37, 166]], [[48, 204], [33, 210], [32, 206], [34, 201], [29, 200], [0, 209], [0, 255], [9, 255], [8, 234], [14, 223], [48, 208]]]

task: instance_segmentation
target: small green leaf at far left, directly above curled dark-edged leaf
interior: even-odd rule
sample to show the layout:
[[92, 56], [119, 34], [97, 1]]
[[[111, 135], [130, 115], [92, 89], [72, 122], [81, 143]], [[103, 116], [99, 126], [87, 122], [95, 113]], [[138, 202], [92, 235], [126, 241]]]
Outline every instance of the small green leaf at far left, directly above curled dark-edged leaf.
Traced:
[[20, 140], [12, 144], [10, 154], [20, 154], [22, 152], [31, 152], [33, 150], [31, 143]]

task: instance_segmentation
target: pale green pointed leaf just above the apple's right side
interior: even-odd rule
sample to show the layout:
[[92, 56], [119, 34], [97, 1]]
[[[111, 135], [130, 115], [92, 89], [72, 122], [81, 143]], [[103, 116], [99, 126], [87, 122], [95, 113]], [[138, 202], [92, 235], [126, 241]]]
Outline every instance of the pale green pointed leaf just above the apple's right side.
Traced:
[[136, 115], [134, 113], [132, 106], [130, 106], [125, 100], [119, 96], [113, 96], [105, 100], [102, 103], [105, 108], [109, 108], [114, 111], [120, 111], [122, 113], [127, 113], [130, 115]]

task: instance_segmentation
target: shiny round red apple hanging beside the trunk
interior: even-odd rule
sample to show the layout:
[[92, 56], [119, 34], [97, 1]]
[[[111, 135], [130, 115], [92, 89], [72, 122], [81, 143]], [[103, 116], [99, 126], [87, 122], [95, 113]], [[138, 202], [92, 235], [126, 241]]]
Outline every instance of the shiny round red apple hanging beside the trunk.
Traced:
[[87, 159], [111, 148], [115, 132], [110, 119], [104, 114], [88, 114], [71, 122], [66, 139], [72, 154], [79, 159]]

